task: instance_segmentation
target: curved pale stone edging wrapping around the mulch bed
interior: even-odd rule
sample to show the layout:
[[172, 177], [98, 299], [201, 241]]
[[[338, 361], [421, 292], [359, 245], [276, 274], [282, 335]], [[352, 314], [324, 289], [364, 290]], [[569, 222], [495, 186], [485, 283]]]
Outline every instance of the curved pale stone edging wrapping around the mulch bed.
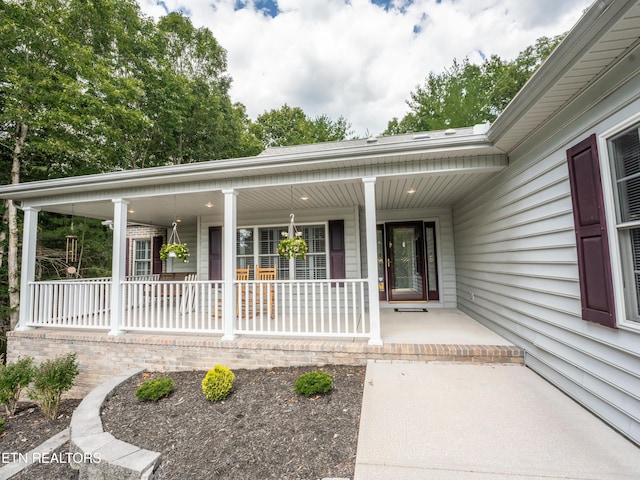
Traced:
[[[104, 431], [100, 409], [109, 394], [129, 377], [142, 372], [133, 368], [94, 388], [78, 405], [71, 417], [71, 453], [80, 453], [84, 461], [73, 460], [80, 480], [151, 480], [160, 461], [160, 453], [118, 440]], [[78, 455], [72, 455], [74, 459]]]

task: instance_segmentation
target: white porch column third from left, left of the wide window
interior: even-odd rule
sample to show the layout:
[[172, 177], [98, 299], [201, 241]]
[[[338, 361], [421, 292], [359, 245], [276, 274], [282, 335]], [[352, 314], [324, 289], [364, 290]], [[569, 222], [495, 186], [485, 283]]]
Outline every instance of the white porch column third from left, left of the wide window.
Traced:
[[222, 228], [222, 279], [224, 282], [224, 296], [222, 321], [224, 335], [222, 340], [235, 339], [236, 318], [236, 289], [233, 281], [236, 278], [236, 230], [237, 197], [234, 189], [222, 190], [224, 194], [224, 226]]

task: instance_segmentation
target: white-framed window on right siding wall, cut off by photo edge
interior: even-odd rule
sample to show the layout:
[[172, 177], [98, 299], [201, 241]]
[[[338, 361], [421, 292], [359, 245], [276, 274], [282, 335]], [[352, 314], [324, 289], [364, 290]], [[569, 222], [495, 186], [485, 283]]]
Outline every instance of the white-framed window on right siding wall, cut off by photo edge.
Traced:
[[640, 322], [640, 124], [609, 140], [625, 302]]

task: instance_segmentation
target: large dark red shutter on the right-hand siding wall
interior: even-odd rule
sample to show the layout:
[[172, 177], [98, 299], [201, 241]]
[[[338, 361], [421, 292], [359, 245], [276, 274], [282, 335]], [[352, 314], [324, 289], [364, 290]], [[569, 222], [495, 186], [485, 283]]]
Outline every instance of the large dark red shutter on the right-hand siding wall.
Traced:
[[609, 241], [596, 136], [567, 150], [582, 318], [616, 328]]

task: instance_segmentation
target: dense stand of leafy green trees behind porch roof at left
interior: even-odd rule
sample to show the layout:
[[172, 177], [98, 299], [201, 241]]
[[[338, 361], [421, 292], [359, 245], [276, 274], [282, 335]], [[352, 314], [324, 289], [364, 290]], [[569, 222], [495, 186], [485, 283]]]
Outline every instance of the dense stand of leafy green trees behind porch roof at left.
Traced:
[[[135, 0], [0, 0], [0, 48], [3, 183], [261, 151], [229, 98], [226, 52], [179, 14], [156, 25]], [[10, 201], [1, 213], [5, 331], [18, 318], [20, 219]]]

